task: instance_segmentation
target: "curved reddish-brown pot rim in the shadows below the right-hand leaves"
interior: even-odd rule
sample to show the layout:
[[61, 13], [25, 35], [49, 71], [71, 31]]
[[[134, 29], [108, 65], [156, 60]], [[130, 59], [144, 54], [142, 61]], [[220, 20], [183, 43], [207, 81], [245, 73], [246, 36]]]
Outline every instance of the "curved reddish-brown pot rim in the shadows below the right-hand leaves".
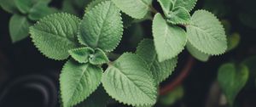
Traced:
[[172, 92], [172, 90], [183, 82], [183, 80], [189, 75], [189, 71], [192, 69], [193, 65], [195, 65], [195, 59], [189, 56], [189, 59], [184, 66], [183, 70], [176, 77], [173, 82], [170, 82], [165, 87], [160, 87], [160, 95], [165, 95], [166, 93]]

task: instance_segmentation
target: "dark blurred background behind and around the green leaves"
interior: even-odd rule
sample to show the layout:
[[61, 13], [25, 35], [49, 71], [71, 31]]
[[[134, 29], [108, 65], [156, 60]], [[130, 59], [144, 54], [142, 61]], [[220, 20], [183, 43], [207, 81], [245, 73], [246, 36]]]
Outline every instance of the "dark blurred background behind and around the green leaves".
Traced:
[[[53, 0], [50, 5], [61, 8], [62, 0]], [[184, 97], [175, 103], [177, 107], [205, 107], [209, 101], [212, 84], [216, 82], [218, 67], [225, 62], [240, 62], [256, 55], [256, 1], [255, 0], [199, 0], [197, 8], [205, 8], [230, 23], [230, 33], [238, 32], [241, 36], [239, 46], [218, 57], [212, 57], [207, 63], [196, 61], [189, 76], [184, 80]], [[160, 10], [154, 0], [154, 7]], [[0, 106], [1, 107], [58, 107], [58, 80], [61, 66], [65, 61], [47, 59], [26, 38], [13, 44], [9, 37], [9, 14], [0, 9]], [[143, 25], [143, 37], [152, 38], [151, 21]], [[125, 29], [124, 37], [116, 53], [133, 52], [137, 42], [133, 42], [129, 31], [134, 25]], [[179, 55], [177, 70], [161, 86], [165, 86], [178, 76], [188, 59], [185, 50]], [[256, 65], [256, 64], [255, 64]], [[238, 95], [239, 106], [256, 106], [256, 89], [248, 87]], [[123, 105], [113, 105], [123, 106]]]

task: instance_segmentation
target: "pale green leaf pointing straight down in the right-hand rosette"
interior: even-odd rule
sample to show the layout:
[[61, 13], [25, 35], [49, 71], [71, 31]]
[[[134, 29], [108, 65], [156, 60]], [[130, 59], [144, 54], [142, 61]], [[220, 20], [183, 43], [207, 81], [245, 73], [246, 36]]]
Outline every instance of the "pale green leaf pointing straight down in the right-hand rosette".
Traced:
[[154, 47], [160, 62], [173, 59], [181, 53], [187, 42], [182, 28], [169, 25], [161, 14], [155, 14], [153, 20]]

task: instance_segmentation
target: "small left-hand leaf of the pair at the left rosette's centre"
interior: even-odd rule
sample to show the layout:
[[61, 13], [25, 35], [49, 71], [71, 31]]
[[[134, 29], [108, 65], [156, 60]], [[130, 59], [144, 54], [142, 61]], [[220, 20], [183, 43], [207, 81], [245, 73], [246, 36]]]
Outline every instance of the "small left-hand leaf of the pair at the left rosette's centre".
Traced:
[[79, 63], [87, 63], [90, 58], [90, 54], [94, 53], [92, 48], [75, 48], [68, 51], [73, 59]]

